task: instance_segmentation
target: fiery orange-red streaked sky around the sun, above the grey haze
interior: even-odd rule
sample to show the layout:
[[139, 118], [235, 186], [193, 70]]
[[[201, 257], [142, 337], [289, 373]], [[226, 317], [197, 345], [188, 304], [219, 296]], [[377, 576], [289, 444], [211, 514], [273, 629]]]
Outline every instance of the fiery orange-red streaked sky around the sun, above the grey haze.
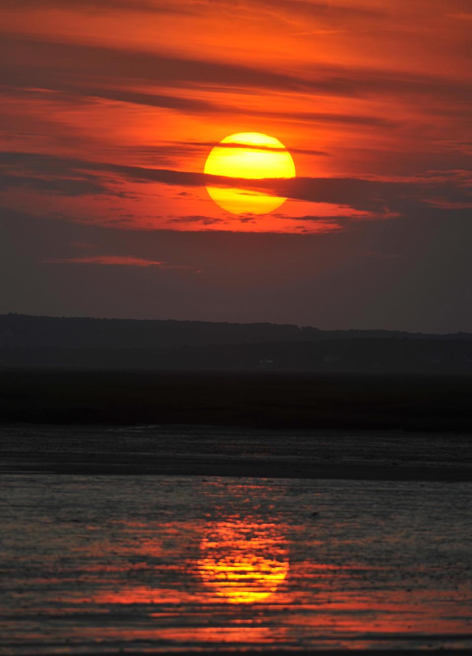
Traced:
[[[449, 220], [472, 207], [471, 29], [469, 0], [4, 1], [1, 206], [110, 233]], [[231, 215], [205, 190], [211, 147], [238, 132], [293, 156], [272, 214]], [[127, 256], [169, 264], [43, 259]]]

